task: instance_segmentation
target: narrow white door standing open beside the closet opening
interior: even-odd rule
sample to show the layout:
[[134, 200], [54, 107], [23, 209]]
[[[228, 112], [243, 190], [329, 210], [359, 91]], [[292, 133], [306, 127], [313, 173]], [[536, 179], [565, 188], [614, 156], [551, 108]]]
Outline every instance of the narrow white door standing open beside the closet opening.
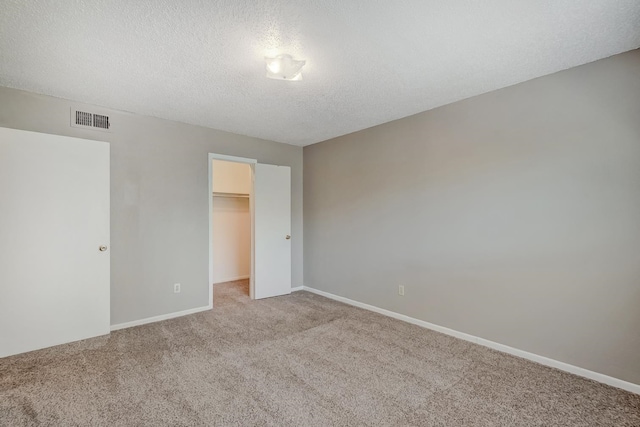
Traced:
[[255, 165], [254, 298], [291, 293], [291, 168]]

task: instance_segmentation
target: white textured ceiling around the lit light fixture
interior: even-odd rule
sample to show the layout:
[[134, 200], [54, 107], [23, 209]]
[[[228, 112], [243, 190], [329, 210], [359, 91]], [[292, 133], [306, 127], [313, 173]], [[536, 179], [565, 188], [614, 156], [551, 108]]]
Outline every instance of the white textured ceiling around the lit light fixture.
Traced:
[[0, 0], [1, 86], [295, 145], [639, 46], [640, 0]]

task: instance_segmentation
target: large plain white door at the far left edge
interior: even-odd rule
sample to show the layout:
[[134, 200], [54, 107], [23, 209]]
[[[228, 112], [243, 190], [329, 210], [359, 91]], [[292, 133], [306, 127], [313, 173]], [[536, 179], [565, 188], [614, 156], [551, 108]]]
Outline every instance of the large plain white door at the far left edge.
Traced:
[[0, 357], [109, 333], [108, 246], [109, 144], [0, 128]]

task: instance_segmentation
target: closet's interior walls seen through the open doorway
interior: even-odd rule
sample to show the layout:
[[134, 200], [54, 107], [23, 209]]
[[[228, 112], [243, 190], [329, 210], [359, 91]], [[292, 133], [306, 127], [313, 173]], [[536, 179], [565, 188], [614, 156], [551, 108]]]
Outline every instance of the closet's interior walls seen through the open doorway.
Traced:
[[[213, 160], [215, 193], [248, 194], [251, 167]], [[251, 269], [249, 198], [213, 198], [213, 283], [248, 278]]]

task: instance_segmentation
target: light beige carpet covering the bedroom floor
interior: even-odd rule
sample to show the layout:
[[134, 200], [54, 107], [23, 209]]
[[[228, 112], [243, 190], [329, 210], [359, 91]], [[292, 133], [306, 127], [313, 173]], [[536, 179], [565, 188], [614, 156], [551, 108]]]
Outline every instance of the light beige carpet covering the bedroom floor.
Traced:
[[308, 292], [0, 359], [0, 426], [640, 426], [640, 396]]

